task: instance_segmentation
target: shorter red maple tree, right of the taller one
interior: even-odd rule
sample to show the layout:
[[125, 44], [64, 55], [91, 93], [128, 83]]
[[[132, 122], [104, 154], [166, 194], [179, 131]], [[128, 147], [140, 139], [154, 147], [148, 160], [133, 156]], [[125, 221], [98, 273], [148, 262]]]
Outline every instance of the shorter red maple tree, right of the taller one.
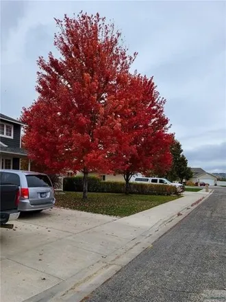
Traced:
[[125, 191], [129, 192], [131, 176], [150, 170], [167, 172], [171, 167], [170, 147], [173, 136], [168, 133], [168, 118], [164, 115], [166, 100], [160, 97], [153, 82], [141, 75], [127, 75], [123, 89], [112, 108], [120, 117], [117, 133], [118, 148], [114, 154], [114, 170], [123, 174]]

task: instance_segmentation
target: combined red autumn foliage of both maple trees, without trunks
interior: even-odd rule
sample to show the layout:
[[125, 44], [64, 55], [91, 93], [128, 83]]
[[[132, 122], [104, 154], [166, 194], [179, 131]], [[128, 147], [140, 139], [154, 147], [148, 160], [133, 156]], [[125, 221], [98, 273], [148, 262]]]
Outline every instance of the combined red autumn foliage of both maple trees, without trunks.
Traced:
[[[131, 74], [121, 33], [99, 14], [56, 20], [54, 45], [38, 59], [38, 99], [23, 109], [23, 142], [47, 172], [120, 173], [171, 165], [168, 119], [153, 78]], [[162, 167], [162, 168], [161, 168]]]

